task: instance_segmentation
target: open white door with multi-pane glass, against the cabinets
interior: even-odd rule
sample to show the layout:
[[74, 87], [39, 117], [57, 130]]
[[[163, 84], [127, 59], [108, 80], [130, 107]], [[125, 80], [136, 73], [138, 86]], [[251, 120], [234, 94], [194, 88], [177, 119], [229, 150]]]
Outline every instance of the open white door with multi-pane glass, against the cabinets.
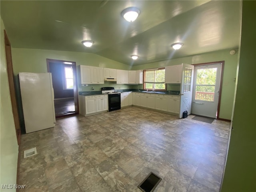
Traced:
[[191, 114], [193, 72], [193, 65], [182, 64], [182, 81], [180, 86], [180, 118], [182, 118], [184, 111], [187, 111], [188, 115]]

